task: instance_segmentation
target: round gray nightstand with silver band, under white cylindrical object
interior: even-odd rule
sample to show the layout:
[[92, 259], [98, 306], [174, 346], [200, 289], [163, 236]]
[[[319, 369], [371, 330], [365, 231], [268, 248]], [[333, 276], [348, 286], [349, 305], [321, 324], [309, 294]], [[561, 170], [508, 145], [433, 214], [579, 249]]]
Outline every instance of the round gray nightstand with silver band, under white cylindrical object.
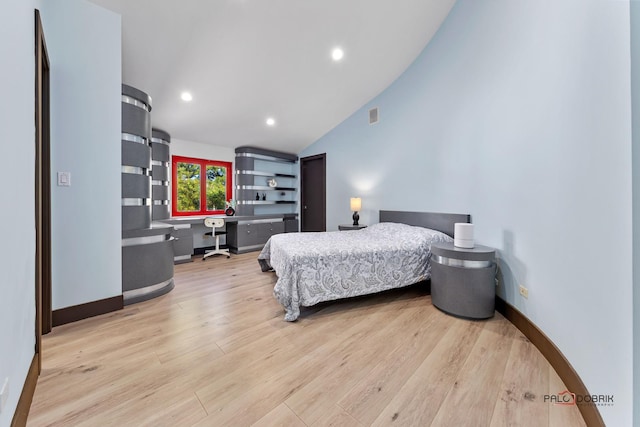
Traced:
[[493, 317], [496, 299], [495, 249], [453, 243], [431, 245], [431, 301], [447, 314], [467, 319]]

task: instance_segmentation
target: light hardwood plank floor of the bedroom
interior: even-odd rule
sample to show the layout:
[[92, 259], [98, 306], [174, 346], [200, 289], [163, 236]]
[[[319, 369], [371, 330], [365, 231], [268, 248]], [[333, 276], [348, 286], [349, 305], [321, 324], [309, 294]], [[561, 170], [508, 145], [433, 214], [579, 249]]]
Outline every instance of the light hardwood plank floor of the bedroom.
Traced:
[[176, 266], [169, 294], [54, 328], [29, 426], [580, 426], [538, 350], [496, 313], [420, 286], [304, 309], [257, 253]]

